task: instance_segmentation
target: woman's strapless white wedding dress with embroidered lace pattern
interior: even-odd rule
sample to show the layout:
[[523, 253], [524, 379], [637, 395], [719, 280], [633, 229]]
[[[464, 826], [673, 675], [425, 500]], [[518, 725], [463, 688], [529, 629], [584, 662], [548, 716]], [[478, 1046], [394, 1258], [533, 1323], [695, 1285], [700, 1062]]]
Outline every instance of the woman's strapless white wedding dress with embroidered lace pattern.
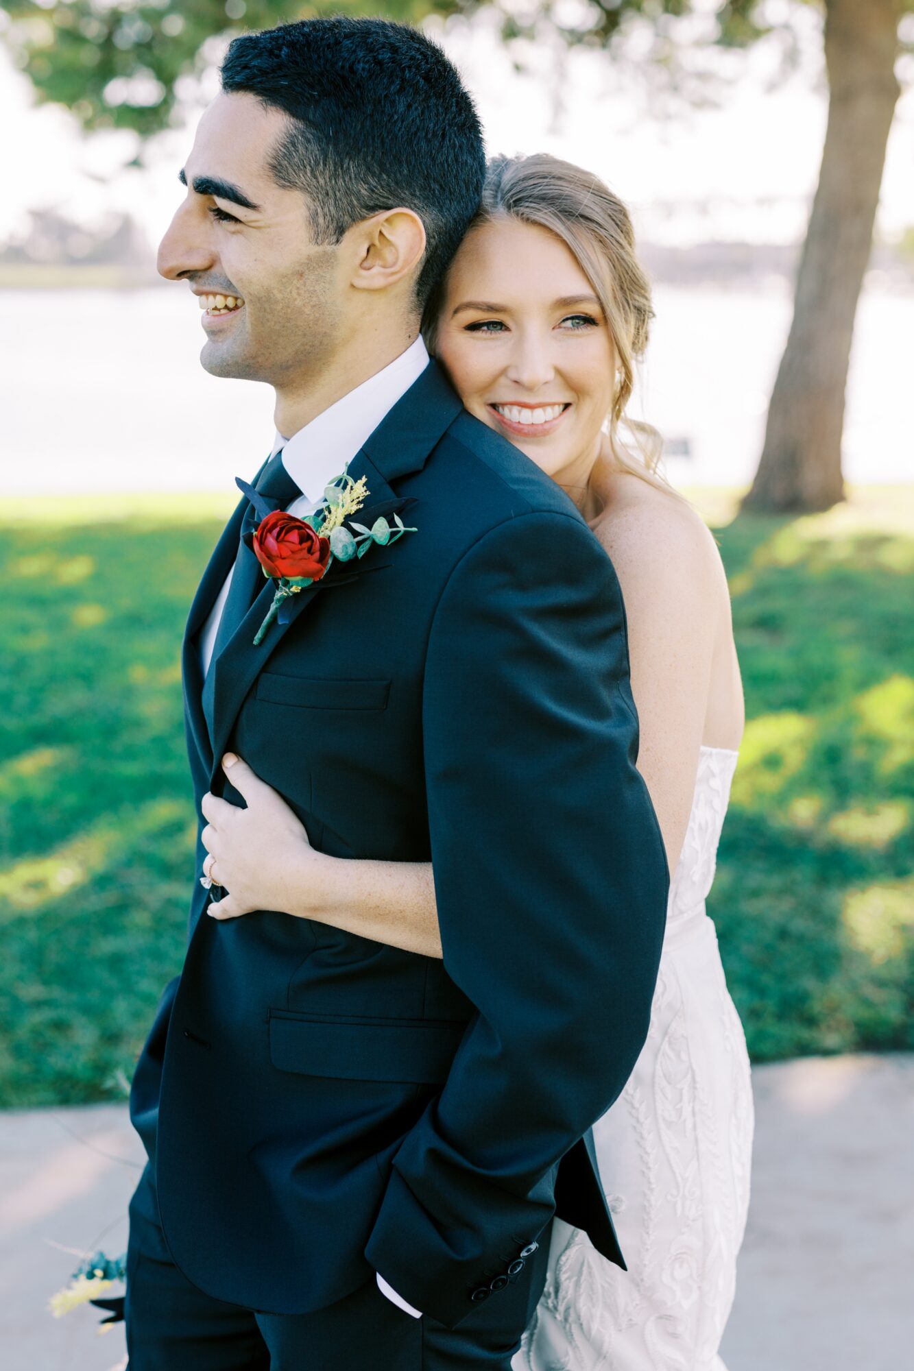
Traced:
[[701, 747], [670, 886], [651, 1028], [594, 1124], [627, 1271], [556, 1220], [549, 1274], [513, 1371], [726, 1371], [755, 1113], [742, 1024], [704, 901], [737, 753]]

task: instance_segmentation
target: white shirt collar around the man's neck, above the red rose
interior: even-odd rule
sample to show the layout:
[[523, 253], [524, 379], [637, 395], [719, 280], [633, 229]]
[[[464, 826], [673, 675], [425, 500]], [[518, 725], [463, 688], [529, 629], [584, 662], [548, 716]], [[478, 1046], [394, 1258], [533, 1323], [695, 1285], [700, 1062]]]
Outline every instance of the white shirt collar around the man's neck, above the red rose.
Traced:
[[283, 466], [302, 494], [312, 502], [320, 500], [324, 487], [351, 462], [427, 365], [428, 352], [420, 335], [405, 352], [349, 395], [343, 395], [298, 433], [285, 439], [277, 432], [270, 457], [281, 448]]

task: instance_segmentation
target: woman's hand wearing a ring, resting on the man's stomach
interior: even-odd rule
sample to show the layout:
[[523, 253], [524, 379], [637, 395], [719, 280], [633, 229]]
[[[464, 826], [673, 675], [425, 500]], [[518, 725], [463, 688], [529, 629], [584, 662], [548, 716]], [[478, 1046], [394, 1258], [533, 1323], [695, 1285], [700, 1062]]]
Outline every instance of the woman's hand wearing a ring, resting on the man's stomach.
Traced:
[[302, 890], [318, 884], [324, 858], [307, 840], [305, 825], [283, 797], [235, 753], [222, 768], [244, 797], [247, 809], [206, 792], [200, 803], [207, 825], [200, 838], [213, 860], [206, 872], [226, 894], [213, 901], [213, 919], [237, 919], [255, 909], [306, 916]]

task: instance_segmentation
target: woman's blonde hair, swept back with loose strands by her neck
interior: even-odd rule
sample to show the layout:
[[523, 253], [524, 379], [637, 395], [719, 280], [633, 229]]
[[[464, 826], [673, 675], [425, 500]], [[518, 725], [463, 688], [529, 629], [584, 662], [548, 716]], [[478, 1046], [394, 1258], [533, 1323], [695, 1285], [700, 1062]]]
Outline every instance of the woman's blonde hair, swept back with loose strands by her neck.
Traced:
[[[574, 254], [600, 300], [618, 358], [619, 380], [607, 415], [609, 450], [624, 472], [682, 499], [659, 470], [663, 455], [659, 430], [624, 413], [634, 387], [634, 363], [644, 355], [655, 317], [651, 281], [635, 256], [629, 210], [591, 171], [548, 152], [534, 152], [490, 159], [479, 210], [469, 228], [498, 219], [549, 229]], [[432, 291], [423, 319], [432, 352], [445, 289], [446, 280]], [[622, 422], [637, 452], [619, 437]]]

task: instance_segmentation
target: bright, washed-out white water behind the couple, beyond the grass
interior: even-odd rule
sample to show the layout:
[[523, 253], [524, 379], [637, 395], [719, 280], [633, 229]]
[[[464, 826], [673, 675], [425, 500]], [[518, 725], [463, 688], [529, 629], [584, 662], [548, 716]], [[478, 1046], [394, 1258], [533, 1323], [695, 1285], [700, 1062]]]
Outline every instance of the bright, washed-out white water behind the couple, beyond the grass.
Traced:
[[[751, 480], [790, 296], [663, 285], [631, 410], [689, 458], [679, 484]], [[914, 295], [865, 292], [844, 437], [852, 481], [914, 478]], [[0, 291], [0, 491], [226, 491], [273, 439], [272, 391], [207, 376], [187, 289]]]

